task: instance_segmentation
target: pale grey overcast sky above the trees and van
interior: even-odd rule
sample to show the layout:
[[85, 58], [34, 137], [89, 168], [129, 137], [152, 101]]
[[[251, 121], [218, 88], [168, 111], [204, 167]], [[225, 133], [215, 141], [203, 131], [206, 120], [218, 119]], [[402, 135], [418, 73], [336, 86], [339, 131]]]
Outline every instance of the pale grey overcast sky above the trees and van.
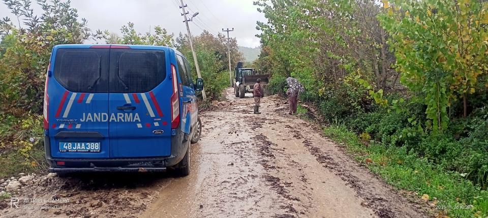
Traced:
[[[193, 35], [207, 29], [212, 34], [221, 32], [222, 28], [234, 28], [231, 37], [237, 39], [240, 46], [258, 47], [259, 39], [255, 37], [256, 21], [265, 21], [264, 15], [257, 12], [253, 0], [184, 0], [188, 5], [190, 16], [199, 12], [194, 22], [190, 22]], [[72, 0], [73, 8], [78, 15], [88, 20], [88, 27], [107, 29], [120, 34], [120, 27], [127, 22], [134, 23], [138, 32], [147, 32], [149, 26], [159, 25], [168, 32], [178, 35], [186, 33], [179, 0]], [[33, 1], [35, 13], [41, 14], [36, 1]], [[15, 20], [5, 4], [0, 3], [0, 17], [9, 16]]]

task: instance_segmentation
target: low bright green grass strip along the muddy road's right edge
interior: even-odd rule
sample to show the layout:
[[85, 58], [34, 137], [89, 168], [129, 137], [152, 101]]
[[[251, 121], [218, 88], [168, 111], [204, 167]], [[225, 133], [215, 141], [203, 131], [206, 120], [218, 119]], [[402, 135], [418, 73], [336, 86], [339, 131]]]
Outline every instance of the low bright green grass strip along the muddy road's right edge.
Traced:
[[[345, 126], [324, 128], [331, 139], [342, 142], [357, 161], [380, 175], [388, 184], [417, 193], [440, 210], [440, 216], [485, 217], [488, 215], [488, 193], [480, 190], [459, 173], [443, 170], [405, 148], [388, 147], [372, 142], [364, 146], [358, 136]], [[368, 160], [367, 160], [368, 159]], [[437, 199], [437, 200], [434, 200]]]

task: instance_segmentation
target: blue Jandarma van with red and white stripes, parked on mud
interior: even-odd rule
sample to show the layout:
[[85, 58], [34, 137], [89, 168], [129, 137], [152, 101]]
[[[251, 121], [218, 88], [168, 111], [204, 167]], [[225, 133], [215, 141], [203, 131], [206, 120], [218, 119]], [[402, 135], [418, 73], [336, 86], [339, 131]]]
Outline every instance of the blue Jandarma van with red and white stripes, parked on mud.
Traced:
[[141, 45], [58, 45], [44, 94], [49, 172], [190, 173], [201, 135], [188, 60]]

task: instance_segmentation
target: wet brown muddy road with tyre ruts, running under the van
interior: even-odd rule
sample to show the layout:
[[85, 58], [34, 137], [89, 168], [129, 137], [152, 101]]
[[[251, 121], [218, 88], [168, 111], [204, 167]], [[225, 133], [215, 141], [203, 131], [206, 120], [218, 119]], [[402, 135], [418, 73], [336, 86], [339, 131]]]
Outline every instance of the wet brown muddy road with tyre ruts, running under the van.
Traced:
[[[286, 114], [286, 101], [235, 98], [201, 114], [187, 177], [139, 174], [35, 176], [0, 203], [1, 217], [427, 217], [412, 202], [321, 136]], [[27, 201], [23, 201], [23, 200]], [[29, 199], [60, 199], [54, 202]], [[50, 206], [50, 207], [49, 207]]]

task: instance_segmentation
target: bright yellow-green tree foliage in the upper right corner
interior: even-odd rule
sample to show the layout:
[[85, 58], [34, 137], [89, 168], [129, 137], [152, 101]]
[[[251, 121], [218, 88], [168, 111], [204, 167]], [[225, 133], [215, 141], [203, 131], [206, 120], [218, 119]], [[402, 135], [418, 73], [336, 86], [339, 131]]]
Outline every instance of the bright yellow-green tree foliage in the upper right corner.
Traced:
[[[391, 3], [391, 6], [390, 6]], [[384, 1], [379, 16], [390, 33], [402, 82], [424, 94], [434, 130], [448, 124], [447, 108], [476, 91], [488, 70], [488, 4], [482, 1]], [[466, 115], [467, 108], [464, 108]]]

